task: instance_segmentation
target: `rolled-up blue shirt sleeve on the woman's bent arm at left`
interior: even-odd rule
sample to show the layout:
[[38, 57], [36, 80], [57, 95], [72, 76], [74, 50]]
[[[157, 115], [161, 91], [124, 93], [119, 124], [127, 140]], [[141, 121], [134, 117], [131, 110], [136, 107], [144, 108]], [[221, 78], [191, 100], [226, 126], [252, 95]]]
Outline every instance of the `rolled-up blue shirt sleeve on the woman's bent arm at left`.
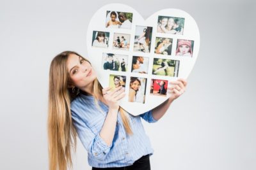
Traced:
[[72, 120], [79, 139], [84, 148], [86, 148], [88, 155], [95, 157], [97, 160], [104, 160], [112, 145], [108, 146], [99, 134], [94, 134], [76, 113], [72, 113]]

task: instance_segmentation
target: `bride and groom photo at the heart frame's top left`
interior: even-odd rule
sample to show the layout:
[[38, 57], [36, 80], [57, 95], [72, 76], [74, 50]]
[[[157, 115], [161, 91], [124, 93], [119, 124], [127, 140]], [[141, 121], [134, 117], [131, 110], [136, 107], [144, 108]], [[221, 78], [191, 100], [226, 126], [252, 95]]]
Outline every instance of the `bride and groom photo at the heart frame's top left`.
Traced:
[[132, 13], [107, 11], [106, 27], [113, 29], [131, 29]]

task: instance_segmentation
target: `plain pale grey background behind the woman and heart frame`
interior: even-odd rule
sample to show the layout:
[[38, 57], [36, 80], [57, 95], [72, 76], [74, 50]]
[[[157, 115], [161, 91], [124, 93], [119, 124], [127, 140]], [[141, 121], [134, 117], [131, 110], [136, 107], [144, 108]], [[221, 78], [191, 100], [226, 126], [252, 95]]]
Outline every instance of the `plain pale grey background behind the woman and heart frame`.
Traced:
[[[49, 64], [63, 50], [86, 56], [86, 30], [107, 3], [144, 18], [178, 8], [195, 18], [200, 53], [188, 90], [145, 124], [152, 169], [256, 169], [255, 1], [0, 1], [0, 169], [47, 169]], [[79, 141], [79, 140], [78, 140]], [[74, 169], [89, 169], [80, 141]]]

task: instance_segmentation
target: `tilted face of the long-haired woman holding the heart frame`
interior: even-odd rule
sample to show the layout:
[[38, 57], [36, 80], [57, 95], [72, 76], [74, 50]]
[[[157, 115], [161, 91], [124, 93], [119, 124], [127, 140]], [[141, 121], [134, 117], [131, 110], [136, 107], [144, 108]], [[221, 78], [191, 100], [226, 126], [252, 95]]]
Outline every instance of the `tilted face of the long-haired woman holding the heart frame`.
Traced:
[[96, 73], [91, 64], [76, 54], [68, 56], [67, 68], [72, 85], [78, 89], [84, 89], [96, 78]]

